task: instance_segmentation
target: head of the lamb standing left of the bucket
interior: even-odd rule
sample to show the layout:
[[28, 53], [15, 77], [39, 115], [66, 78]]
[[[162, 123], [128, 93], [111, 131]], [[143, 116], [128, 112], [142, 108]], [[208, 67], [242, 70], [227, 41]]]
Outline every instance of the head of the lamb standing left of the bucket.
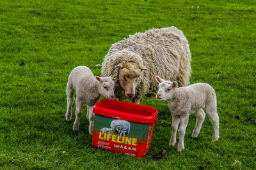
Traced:
[[114, 81], [111, 77], [99, 77], [95, 76], [96, 80], [99, 81], [98, 90], [99, 93], [108, 99], [114, 99]]

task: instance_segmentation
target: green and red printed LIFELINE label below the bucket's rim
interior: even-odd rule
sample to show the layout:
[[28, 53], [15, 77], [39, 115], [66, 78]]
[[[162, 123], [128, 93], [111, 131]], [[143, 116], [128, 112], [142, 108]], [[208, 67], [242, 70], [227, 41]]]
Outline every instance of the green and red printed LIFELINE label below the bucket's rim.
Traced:
[[152, 137], [152, 124], [129, 122], [95, 114], [93, 145], [114, 152], [145, 155]]

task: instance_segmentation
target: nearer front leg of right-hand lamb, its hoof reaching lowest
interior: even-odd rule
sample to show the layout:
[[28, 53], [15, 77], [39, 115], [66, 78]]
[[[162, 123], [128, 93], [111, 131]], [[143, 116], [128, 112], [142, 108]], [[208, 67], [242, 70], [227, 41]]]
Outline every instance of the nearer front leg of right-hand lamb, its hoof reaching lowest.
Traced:
[[180, 127], [179, 127], [179, 144], [178, 144], [178, 152], [182, 152], [184, 150], [184, 136], [186, 133], [186, 128], [188, 125], [188, 117], [180, 118]]

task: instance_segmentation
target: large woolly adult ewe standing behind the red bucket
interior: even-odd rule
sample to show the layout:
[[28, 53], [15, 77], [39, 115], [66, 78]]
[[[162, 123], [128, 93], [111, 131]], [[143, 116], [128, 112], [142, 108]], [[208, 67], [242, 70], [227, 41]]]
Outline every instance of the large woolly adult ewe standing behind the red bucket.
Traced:
[[154, 97], [159, 75], [189, 85], [191, 53], [188, 40], [176, 27], [139, 32], [109, 48], [102, 62], [102, 76], [113, 75], [115, 96], [140, 103], [143, 96]]

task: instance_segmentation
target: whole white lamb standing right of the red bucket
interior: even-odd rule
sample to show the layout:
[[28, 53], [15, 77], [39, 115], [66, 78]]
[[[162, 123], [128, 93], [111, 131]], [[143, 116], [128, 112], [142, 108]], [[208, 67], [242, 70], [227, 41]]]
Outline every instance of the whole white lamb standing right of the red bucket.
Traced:
[[172, 113], [172, 137], [169, 145], [176, 143], [176, 133], [179, 127], [178, 152], [184, 150], [184, 136], [188, 125], [189, 115], [195, 113], [196, 125], [192, 138], [196, 138], [204, 122], [205, 113], [209, 116], [214, 127], [212, 141], [217, 141], [219, 137], [219, 116], [217, 113], [216, 94], [211, 85], [207, 83], [195, 83], [188, 87], [177, 88], [177, 82], [166, 81], [156, 76], [159, 83], [157, 99], [168, 101], [169, 109]]

